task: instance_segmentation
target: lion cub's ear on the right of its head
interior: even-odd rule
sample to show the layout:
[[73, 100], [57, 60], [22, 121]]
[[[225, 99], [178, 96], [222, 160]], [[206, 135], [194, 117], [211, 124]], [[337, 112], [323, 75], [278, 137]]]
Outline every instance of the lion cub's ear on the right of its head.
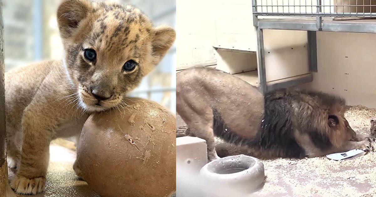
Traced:
[[167, 51], [174, 44], [176, 32], [168, 26], [158, 26], [154, 29], [154, 37], [152, 39], [152, 55], [153, 64], [158, 64]]

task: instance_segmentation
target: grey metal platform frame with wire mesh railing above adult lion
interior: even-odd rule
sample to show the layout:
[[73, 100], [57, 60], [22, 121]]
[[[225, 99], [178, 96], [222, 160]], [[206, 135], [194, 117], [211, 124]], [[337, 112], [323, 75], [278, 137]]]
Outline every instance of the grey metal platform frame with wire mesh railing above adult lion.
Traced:
[[[346, 0], [252, 0], [261, 92], [265, 93], [279, 87], [290, 87], [294, 84], [312, 81], [312, 72], [317, 72], [317, 31], [376, 33], [376, 4], [371, 5], [372, 1], [370, 1], [368, 5], [365, 2], [363, 1], [360, 5], [358, 1]], [[351, 5], [351, 3], [355, 5]], [[261, 16], [270, 17], [262, 18]], [[307, 55], [311, 73], [282, 82], [267, 82], [264, 29], [308, 31]]]

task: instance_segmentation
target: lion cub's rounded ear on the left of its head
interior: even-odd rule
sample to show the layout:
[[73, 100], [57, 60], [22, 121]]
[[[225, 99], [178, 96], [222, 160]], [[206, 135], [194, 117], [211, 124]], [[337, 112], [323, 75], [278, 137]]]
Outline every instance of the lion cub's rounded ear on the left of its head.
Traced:
[[91, 9], [87, 0], [63, 0], [58, 8], [58, 26], [62, 38], [69, 38]]

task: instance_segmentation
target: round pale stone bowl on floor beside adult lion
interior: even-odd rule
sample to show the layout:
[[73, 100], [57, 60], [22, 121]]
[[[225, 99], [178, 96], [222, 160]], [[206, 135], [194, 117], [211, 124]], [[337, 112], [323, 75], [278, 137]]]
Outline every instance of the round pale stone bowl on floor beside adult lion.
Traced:
[[249, 196], [264, 183], [264, 164], [252, 156], [227, 156], [207, 163], [200, 177], [206, 196]]

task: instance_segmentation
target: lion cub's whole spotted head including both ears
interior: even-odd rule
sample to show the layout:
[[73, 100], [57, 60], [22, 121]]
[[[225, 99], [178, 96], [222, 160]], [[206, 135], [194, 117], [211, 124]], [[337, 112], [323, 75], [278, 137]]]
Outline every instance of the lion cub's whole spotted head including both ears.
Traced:
[[61, 5], [58, 16], [64, 65], [88, 111], [121, 105], [175, 40], [173, 29], [153, 28], [132, 6], [80, 0]]

